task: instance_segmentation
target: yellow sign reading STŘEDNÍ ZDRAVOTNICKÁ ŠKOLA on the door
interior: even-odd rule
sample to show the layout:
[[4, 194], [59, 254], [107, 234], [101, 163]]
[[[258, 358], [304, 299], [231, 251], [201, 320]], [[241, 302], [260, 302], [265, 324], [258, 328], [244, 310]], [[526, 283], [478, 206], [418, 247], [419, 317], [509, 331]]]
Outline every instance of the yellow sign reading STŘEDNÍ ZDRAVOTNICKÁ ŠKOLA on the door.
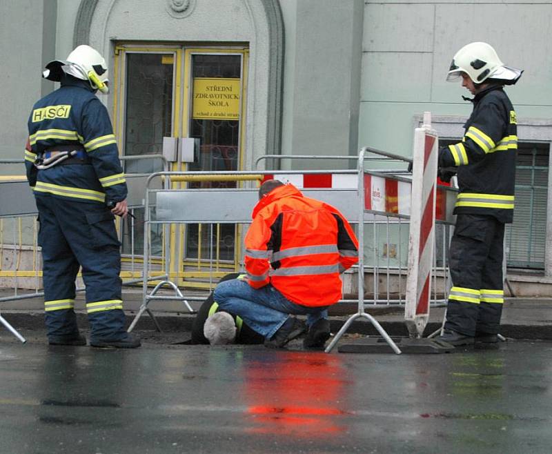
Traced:
[[239, 79], [196, 77], [192, 110], [195, 119], [238, 120]]

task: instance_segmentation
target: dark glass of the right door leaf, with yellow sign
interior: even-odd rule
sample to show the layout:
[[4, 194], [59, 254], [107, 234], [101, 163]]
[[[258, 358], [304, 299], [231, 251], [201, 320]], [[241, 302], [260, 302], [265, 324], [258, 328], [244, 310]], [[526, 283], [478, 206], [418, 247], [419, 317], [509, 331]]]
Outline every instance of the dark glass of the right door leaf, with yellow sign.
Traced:
[[[238, 170], [242, 123], [242, 54], [187, 52], [190, 61], [190, 137], [199, 139], [199, 159], [190, 170]], [[191, 188], [235, 188], [234, 181], [204, 181]], [[186, 237], [186, 259], [212, 257], [234, 261], [237, 237], [234, 224], [192, 224]]]

